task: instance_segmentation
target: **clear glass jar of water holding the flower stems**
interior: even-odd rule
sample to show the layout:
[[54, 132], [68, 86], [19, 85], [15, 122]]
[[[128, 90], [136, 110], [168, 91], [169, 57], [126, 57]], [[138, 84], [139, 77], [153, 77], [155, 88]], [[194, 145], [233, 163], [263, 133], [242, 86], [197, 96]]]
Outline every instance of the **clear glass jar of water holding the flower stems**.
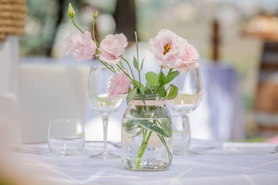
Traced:
[[165, 100], [135, 98], [122, 119], [122, 164], [132, 171], [164, 171], [172, 163], [172, 118]]

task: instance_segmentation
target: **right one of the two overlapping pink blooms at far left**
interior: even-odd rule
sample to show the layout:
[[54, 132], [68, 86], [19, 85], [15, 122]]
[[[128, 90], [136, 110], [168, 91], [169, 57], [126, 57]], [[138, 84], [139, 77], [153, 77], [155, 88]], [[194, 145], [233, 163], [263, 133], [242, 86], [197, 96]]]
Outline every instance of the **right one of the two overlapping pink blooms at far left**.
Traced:
[[74, 57], [76, 58], [76, 63], [79, 60], [90, 60], [96, 54], [96, 43], [92, 40], [91, 33], [86, 31], [82, 35], [82, 40], [77, 41]]

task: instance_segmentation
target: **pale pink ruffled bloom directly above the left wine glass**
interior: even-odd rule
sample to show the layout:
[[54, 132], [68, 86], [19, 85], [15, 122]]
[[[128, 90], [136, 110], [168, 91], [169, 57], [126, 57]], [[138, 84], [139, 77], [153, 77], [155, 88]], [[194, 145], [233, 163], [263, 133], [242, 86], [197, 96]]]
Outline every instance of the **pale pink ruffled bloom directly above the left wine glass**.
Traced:
[[122, 33], [105, 36], [98, 48], [100, 51], [100, 60], [105, 61], [109, 65], [118, 64], [122, 57], [122, 53], [125, 52], [127, 44], [127, 38]]

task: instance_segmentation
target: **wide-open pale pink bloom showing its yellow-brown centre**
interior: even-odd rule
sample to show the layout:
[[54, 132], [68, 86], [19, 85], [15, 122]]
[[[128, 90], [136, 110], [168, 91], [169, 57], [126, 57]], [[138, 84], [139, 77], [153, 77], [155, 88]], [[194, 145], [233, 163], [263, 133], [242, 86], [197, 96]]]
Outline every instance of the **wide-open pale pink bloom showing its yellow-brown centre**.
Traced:
[[187, 41], [169, 29], [162, 29], [157, 36], [149, 40], [149, 49], [155, 54], [155, 60], [164, 68], [180, 66], [186, 52]]

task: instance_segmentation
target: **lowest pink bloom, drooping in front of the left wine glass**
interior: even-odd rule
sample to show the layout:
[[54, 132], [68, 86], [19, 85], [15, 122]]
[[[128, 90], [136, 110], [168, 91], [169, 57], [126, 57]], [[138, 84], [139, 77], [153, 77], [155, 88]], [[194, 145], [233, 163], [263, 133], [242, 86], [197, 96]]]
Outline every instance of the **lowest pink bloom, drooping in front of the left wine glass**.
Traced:
[[[125, 69], [127, 72], [127, 69]], [[109, 87], [107, 88], [108, 101], [111, 101], [114, 97], [124, 95], [129, 92], [131, 83], [129, 78], [122, 71], [116, 72], [113, 78], [110, 79]]]

